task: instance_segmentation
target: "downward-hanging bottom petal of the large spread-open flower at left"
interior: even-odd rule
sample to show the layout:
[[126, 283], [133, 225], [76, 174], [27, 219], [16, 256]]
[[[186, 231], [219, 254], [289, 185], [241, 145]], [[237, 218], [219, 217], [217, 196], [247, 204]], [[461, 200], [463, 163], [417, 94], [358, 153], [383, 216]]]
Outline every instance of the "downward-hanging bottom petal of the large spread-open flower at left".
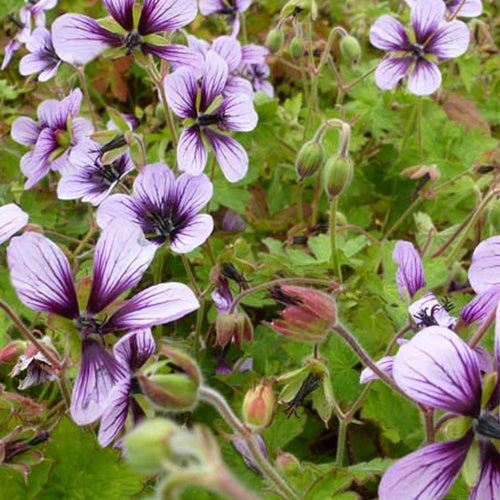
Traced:
[[127, 376], [127, 371], [96, 340], [84, 339], [80, 369], [71, 394], [73, 421], [88, 425], [97, 420], [112, 387]]

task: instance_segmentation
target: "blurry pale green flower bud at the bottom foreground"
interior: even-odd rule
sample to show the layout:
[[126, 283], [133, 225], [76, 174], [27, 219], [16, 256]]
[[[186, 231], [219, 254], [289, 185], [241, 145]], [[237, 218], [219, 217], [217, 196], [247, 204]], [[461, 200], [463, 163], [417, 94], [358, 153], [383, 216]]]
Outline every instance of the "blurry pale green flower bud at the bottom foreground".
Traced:
[[170, 439], [178, 432], [170, 420], [153, 418], [132, 429], [123, 440], [127, 462], [142, 474], [157, 474], [170, 455]]

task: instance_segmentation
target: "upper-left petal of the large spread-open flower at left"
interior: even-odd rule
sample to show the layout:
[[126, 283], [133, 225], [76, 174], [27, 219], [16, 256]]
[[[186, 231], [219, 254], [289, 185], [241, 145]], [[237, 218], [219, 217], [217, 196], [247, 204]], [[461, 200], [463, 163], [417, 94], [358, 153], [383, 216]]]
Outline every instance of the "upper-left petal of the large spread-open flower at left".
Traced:
[[78, 317], [73, 277], [62, 250], [45, 236], [24, 233], [7, 248], [10, 279], [21, 302], [35, 311]]

